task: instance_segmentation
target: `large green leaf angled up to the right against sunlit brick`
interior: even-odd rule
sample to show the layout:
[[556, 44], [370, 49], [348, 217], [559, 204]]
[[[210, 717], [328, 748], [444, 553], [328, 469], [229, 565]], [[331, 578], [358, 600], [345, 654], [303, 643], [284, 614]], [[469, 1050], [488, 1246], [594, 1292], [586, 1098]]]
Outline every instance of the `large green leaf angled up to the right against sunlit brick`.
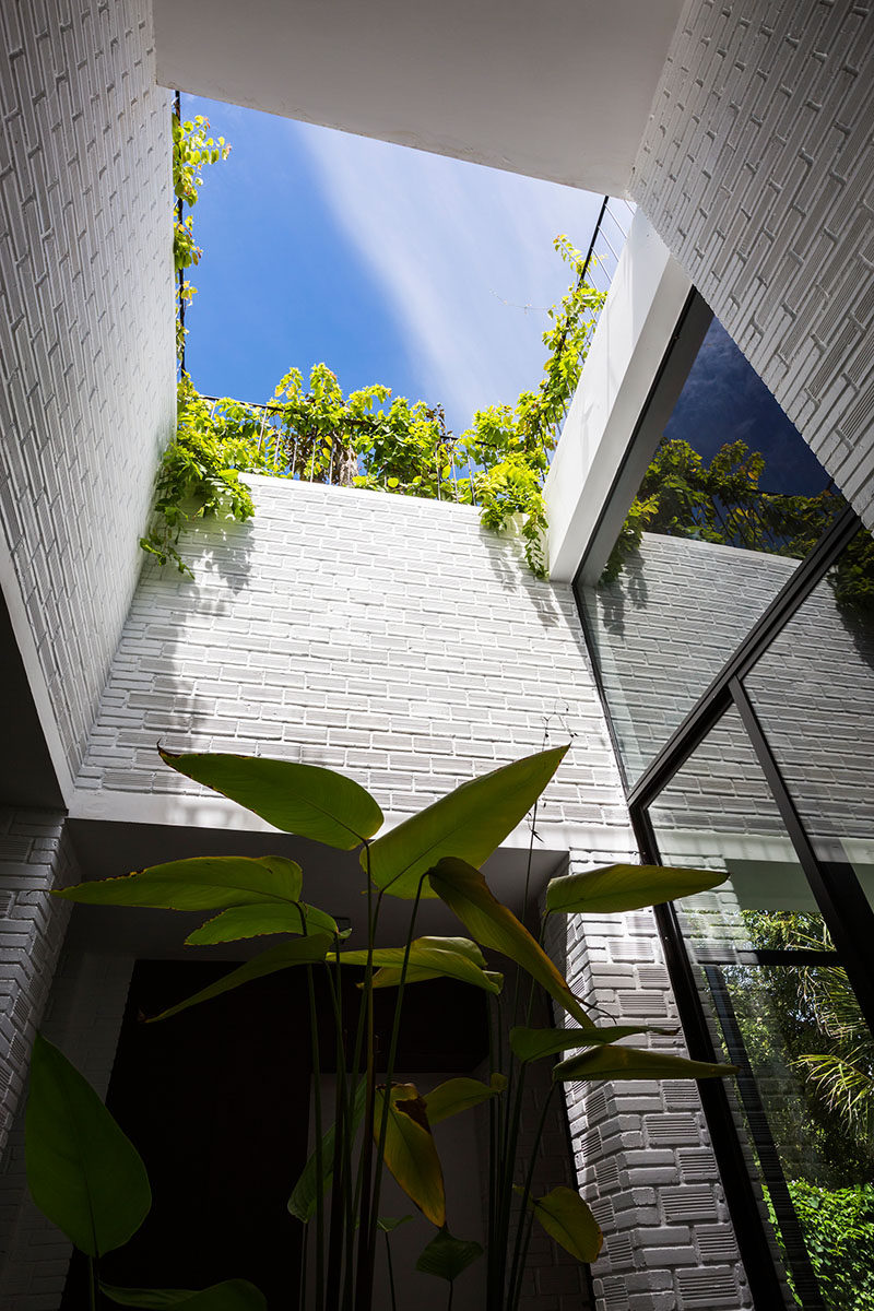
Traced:
[[[515, 760], [463, 783], [432, 806], [377, 838], [370, 848], [371, 877], [392, 897], [411, 898], [419, 878], [442, 856], [481, 865], [511, 832], [558, 768], [566, 746]], [[367, 853], [362, 864], [367, 868]], [[427, 880], [423, 897], [432, 897]]]

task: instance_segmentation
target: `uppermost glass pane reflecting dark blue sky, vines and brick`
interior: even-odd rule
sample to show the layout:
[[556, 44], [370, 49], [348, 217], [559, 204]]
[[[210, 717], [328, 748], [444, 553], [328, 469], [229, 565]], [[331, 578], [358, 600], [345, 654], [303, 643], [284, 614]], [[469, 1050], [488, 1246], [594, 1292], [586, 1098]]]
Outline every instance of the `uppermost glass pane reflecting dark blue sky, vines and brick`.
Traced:
[[632, 781], [843, 506], [714, 320], [600, 581], [578, 589]]

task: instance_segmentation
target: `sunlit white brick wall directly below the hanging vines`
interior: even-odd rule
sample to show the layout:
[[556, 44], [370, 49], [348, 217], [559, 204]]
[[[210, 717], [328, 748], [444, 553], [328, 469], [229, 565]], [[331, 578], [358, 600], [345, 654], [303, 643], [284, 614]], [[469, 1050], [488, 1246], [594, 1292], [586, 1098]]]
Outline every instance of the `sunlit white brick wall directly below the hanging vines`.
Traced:
[[186, 792], [155, 743], [349, 771], [418, 810], [574, 733], [541, 822], [628, 823], [570, 587], [539, 582], [477, 510], [253, 479], [248, 526], [149, 569], [80, 788]]

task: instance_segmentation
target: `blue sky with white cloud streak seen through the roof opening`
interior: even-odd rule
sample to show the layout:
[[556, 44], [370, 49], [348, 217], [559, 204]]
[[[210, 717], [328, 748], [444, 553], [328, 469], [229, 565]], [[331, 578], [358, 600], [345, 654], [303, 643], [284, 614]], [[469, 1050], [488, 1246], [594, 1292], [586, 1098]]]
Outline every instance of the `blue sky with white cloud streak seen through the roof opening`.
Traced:
[[535, 387], [552, 248], [588, 245], [601, 197], [194, 96], [231, 157], [193, 215], [186, 367], [207, 395], [261, 401], [324, 361], [346, 391], [385, 383], [449, 426]]

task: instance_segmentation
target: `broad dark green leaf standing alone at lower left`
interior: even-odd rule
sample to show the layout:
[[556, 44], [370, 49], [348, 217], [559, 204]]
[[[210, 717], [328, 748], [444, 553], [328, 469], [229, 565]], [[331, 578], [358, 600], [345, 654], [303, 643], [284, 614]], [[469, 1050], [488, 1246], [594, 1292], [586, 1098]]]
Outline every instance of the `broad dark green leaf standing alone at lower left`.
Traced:
[[79, 1070], [41, 1033], [25, 1120], [30, 1194], [88, 1256], [127, 1243], [152, 1193], [139, 1152]]

